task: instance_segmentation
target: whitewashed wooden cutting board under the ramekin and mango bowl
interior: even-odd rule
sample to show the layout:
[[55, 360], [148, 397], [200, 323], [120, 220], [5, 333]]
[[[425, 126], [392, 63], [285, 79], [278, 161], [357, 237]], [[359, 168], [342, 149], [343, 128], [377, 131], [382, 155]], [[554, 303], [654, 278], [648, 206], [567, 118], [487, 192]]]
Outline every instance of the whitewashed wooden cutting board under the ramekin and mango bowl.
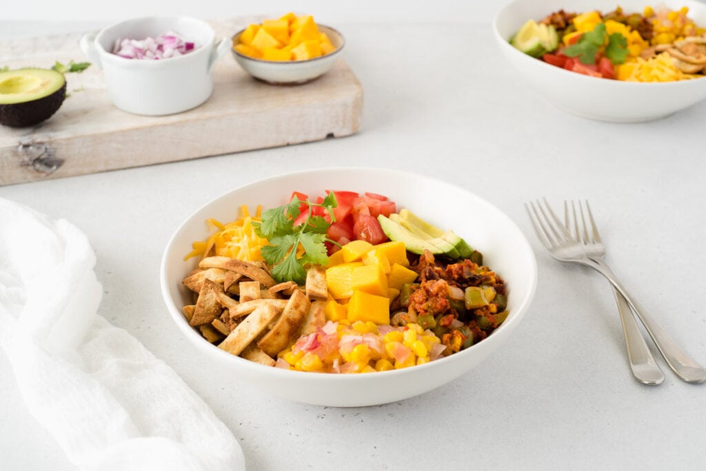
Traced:
[[[231, 37], [251, 20], [213, 25], [217, 35]], [[0, 41], [0, 67], [87, 61], [78, 47], [81, 36]], [[217, 62], [213, 74], [214, 92], [207, 102], [157, 117], [113, 106], [95, 65], [66, 74], [70, 96], [52, 118], [32, 128], [0, 126], [0, 185], [299, 144], [359, 129], [363, 89], [342, 59], [304, 85], [255, 80], [232, 54]]]

